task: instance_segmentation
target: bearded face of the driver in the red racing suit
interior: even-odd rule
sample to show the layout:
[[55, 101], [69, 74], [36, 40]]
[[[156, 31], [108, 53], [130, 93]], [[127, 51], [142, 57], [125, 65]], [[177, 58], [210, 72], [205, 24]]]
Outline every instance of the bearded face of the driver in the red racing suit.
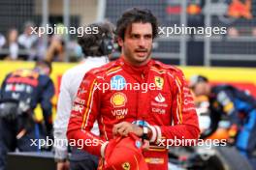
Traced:
[[151, 23], [132, 23], [126, 29], [124, 40], [118, 39], [122, 55], [132, 65], [142, 66], [150, 59], [152, 49], [152, 26]]

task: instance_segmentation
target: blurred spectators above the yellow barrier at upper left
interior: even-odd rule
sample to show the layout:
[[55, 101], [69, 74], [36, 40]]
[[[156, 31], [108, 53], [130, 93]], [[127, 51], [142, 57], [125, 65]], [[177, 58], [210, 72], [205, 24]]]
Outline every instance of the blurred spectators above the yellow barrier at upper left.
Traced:
[[11, 28], [7, 35], [0, 35], [0, 58], [3, 60], [25, 60], [48, 62], [64, 61], [64, 40], [62, 35], [50, 35], [48, 43], [44, 43], [43, 37], [31, 34], [35, 24], [26, 22], [24, 30], [18, 34], [16, 28]]

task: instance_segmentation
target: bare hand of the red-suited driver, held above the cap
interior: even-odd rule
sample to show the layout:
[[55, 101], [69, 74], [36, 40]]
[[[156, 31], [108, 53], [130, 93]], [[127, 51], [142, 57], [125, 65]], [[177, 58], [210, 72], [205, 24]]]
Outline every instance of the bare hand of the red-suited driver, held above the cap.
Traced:
[[112, 128], [113, 135], [119, 134], [121, 136], [127, 136], [129, 132], [135, 133], [137, 136], [141, 137], [144, 133], [143, 128], [136, 126], [128, 122], [121, 122], [116, 124]]

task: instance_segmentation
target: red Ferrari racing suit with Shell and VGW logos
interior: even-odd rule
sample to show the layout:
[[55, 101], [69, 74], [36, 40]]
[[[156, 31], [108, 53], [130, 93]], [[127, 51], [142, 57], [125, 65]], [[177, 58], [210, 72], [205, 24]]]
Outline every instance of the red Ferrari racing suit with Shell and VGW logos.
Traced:
[[[168, 150], [157, 145], [159, 139], [199, 137], [198, 117], [182, 71], [154, 60], [134, 67], [121, 56], [84, 75], [67, 135], [70, 141], [86, 141], [82, 150], [102, 156], [102, 145], [113, 137], [113, 125], [138, 120], [152, 130], [150, 149], [144, 152], [150, 170], [168, 168]], [[100, 136], [90, 132], [95, 121]]]

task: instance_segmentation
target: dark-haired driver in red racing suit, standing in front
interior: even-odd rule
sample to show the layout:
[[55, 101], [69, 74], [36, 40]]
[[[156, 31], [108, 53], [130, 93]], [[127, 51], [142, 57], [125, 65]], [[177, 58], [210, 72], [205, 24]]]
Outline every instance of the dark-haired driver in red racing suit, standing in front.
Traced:
[[[105, 157], [114, 136], [134, 133], [144, 142], [150, 141], [148, 151], [143, 153], [148, 169], [166, 170], [168, 151], [166, 146], [159, 146], [160, 141], [199, 137], [193, 97], [182, 71], [150, 57], [157, 28], [157, 19], [150, 11], [125, 12], [115, 31], [121, 49], [119, 59], [83, 77], [67, 135], [70, 140], [92, 141], [91, 145], [84, 144], [84, 151]], [[100, 136], [90, 132], [95, 121]], [[108, 161], [108, 156], [102, 158], [99, 169], [105, 169]], [[131, 167], [134, 163], [129, 160], [120, 163], [126, 169], [140, 168]]]

